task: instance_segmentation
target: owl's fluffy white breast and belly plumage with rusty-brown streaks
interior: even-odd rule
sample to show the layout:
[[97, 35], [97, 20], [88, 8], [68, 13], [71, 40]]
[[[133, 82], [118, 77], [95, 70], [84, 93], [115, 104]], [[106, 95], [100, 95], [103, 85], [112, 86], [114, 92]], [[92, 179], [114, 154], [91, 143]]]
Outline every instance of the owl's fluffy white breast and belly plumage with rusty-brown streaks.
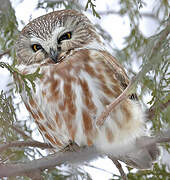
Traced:
[[63, 148], [71, 140], [78, 145], [95, 145], [103, 151], [114, 149], [120, 153], [119, 146], [122, 148], [122, 144], [130, 143], [143, 132], [140, 105], [134, 100], [125, 100], [100, 128], [96, 119], [123, 91], [116, 73], [125, 78], [126, 74], [106, 52], [78, 50], [67, 56], [59, 64], [22, 67], [26, 73], [40, 67], [43, 74], [36, 82], [32, 98], [23, 92], [27, 109], [53, 146]]

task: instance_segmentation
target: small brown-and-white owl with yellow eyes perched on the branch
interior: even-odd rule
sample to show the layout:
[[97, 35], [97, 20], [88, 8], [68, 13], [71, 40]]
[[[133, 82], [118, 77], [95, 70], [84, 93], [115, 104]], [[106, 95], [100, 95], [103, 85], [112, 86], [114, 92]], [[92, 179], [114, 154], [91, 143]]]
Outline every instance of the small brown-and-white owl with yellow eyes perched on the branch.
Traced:
[[[123, 67], [109, 54], [94, 25], [82, 13], [60, 10], [27, 24], [16, 42], [18, 69], [40, 69], [31, 97], [21, 97], [44, 139], [56, 149], [70, 142], [137, 168], [150, 168], [155, 146], [134, 150], [147, 136], [145, 115], [132, 94], [118, 104], [104, 124], [97, 118], [129, 84]], [[24, 87], [23, 87], [24, 89]]]

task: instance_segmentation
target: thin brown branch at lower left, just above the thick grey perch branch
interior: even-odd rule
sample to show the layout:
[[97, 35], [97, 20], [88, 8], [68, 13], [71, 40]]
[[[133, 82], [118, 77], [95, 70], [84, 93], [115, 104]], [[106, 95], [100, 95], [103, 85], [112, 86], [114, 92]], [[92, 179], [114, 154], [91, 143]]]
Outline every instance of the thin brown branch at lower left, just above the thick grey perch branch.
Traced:
[[11, 147], [25, 147], [25, 146], [31, 146], [31, 147], [38, 147], [38, 148], [52, 148], [52, 146], [50, 146], [47, 143], [42, 143], [39, 141], [33, 141], [33, 140], [28, 140], [28, 141], [14, 141], [11, 143], [4, 143], [4, 144], [0, 144], [0, 152], [11, 148]]

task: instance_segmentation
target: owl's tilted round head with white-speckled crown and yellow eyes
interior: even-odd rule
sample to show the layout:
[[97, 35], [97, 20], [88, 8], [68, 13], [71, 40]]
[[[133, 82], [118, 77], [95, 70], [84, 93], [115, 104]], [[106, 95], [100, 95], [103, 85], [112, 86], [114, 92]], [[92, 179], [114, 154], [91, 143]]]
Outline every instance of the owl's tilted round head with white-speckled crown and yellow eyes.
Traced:
[[16, 42], [20, 64], [41, 63], [74, 49], [100, 49], [102, 43], [88, 18], [75, 10], [60, 10], [27, 24]]

